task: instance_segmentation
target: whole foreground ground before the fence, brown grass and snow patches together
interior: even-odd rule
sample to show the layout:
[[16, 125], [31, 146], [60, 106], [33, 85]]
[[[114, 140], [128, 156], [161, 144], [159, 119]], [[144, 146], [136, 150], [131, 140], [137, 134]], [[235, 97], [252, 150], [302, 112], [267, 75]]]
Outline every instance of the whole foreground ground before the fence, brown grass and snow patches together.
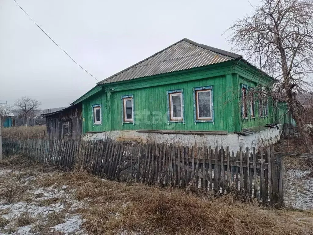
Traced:
[[313, 212], [0, 162], [1, 234], [313, 234]]

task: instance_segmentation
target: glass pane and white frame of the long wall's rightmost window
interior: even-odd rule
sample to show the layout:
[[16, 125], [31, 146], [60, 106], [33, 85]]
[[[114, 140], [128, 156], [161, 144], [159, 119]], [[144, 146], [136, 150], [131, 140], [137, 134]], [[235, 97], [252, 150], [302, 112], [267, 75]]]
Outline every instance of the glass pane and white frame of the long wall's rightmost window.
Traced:
[[197, 91], [198, 118], [211, 118], [211, 91]]

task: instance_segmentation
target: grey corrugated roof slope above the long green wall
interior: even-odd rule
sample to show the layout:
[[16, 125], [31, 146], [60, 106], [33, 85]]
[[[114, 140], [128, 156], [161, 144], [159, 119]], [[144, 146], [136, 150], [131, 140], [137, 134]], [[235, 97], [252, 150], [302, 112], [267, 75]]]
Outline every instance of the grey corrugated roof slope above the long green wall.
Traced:
[[207, 45], [198, 44], [185, 38], [99, 83], [106, 84], [117, 81], [127, 81], [140, 77], [212, 65], [239, 58], [242, 58], [242, 56]]

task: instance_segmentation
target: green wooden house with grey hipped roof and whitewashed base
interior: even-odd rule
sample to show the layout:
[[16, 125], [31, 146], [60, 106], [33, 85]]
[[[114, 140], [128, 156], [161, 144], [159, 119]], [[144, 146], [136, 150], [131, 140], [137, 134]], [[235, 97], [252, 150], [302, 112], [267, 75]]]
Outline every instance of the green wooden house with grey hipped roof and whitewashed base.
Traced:
[[255, 95], [274, 83], [241, 55], [185, 38], [98, 82], [73, 104], [82, 105], [87, 139], [238, 149], [264, 142], [262, 133], [279, 138], [279, 127], [269, 127], [275, 123], [270, 97]]

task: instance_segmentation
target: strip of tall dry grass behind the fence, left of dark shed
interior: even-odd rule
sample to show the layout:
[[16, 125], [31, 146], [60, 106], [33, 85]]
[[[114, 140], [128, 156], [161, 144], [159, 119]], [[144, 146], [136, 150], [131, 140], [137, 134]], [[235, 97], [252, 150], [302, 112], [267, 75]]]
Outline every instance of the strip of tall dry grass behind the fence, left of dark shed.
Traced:
[[2, 137], [11, 139], [43, 139], [46, 132], [46, 126], [21, 126], [2, 128]]

